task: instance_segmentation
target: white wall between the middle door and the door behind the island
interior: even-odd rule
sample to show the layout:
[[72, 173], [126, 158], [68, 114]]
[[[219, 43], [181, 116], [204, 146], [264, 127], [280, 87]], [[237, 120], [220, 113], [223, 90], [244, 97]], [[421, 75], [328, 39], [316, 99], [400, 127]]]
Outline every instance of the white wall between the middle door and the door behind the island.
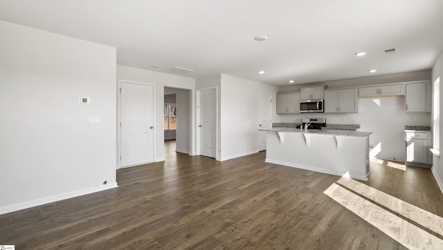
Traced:
[[258, 151], [258, 93], [269, 93], [275, 100], [277, 90], [275, 86], [221, 74], [220, 160]]

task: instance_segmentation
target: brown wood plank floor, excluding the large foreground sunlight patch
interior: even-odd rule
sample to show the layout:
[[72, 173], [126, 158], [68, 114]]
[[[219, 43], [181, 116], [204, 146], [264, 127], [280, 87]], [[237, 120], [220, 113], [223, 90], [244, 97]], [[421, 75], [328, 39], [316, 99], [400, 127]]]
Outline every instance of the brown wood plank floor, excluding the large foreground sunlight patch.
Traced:
[[[377, 194], [372, 189], [363, 195], [350, 187], [372, 186], [443, 217], [443, 195], [429, 169], [405, 171], [401, 164], [371, 162], [368, 182], [344, 185], [338, 176], [265, 163], [265, 152], [217, 162], [174, 149], [174, 141], [167, 142], [165, 162], [118, 170], [118, 189], [0, 215], [0, 244], [16, 249], [406, 249], [325, 194], [331, 186], [369, 202]], [[443, 239], [420, 221], [374, 203]]]

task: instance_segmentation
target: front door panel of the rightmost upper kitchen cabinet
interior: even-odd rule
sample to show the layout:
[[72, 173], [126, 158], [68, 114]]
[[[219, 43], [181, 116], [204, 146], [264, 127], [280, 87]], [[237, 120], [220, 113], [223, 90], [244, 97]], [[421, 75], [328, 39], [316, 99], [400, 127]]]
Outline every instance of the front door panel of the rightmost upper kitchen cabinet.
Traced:
[[406, 112], [425, 112], [425, 84], [406, 84]]

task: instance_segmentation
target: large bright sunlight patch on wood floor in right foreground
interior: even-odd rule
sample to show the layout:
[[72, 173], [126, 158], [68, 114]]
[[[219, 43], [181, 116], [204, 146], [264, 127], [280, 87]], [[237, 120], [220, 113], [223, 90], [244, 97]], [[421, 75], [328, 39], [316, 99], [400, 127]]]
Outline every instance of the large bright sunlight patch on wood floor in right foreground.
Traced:
[[443, 240], [420, 228], [424, 227], [443, 236], [443, 218], [347, 177], [341, 177], [337, 183], [347, 189], [334, 183], [323, 193], [392, 239], [409, 249], [443, 249]]

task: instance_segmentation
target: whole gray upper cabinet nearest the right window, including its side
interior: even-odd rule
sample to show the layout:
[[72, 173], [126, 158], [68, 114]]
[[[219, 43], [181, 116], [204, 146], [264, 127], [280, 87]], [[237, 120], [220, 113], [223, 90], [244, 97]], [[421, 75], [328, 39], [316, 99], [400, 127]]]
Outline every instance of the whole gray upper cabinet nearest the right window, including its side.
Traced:
[[405, 84], [405, 110], [406, 112], [431, 112], [431, 84], [420, 82]]

